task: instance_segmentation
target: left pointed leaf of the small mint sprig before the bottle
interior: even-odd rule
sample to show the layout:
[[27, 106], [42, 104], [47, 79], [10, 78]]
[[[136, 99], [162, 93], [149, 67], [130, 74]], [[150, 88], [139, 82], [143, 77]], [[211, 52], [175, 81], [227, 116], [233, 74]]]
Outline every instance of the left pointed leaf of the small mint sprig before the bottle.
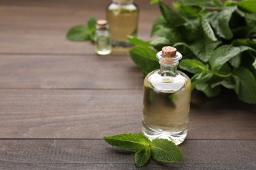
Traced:
[[138, 152], [150, 145], [148, 140], [141, 133], [123, 133], [103, 138], [106, 143], [131, 152]]

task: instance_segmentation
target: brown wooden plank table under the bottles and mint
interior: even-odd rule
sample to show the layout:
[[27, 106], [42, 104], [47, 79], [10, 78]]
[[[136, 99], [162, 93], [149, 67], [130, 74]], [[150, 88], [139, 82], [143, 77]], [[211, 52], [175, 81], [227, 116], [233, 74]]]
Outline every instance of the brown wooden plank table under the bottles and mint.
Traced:
[[[139, 133], [142, 80], [127, 52], [100, 57], [66, 31], [109, 1], [0, 1], [0, 169], [135, 169], [102, 137]], [[138, 0], [139, 37], [158, 7]], [[256, 169], [256, 107], [193, 92], [185, 161], [140, 169]]]

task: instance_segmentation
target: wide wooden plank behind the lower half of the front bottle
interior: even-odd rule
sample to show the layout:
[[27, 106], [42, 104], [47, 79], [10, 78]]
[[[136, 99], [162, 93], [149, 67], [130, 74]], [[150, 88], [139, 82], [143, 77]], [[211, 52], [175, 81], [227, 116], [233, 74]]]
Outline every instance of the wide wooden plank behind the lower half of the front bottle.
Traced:
[[[2, 89], [0, 108], [1, 138], [101, 139], [141, 131], [142, 90]], [[255, 110], [193, 93], [187, 139], [256, 140]]]

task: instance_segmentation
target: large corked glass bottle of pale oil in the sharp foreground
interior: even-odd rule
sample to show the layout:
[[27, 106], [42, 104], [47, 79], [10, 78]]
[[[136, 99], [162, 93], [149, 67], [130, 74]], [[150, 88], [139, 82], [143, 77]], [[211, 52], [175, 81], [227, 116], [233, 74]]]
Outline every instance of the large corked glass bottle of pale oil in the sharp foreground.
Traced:
[[144, 79], [142, 133], [181, 144], [186, 138], [190, 110], [190, 78], [177, 71], [181, 53], [165, 46], [156, 54], [160, 69]]

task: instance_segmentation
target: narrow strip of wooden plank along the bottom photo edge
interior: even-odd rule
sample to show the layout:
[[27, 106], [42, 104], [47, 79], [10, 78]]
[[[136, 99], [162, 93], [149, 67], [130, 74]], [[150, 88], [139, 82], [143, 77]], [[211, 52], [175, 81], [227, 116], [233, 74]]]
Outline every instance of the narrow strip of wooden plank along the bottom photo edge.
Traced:
[[[0, 165], [3, 169], [137, 169], [134, 163], [13, 163], [13, 162], [4, 162]], [[247, 170], [255, 170], [256, 165], [253, 163], [240, 163], [240, 164], [224, 164], [224, 163], [186, 163], [186, 164], [173, 164], [166, 165], [163, 163], [158, 164], [148, 164], [144, 167], [140, 167], [140, 169], [175, 169], [175, 170], [205, 170], [205, 169], [218, 169], [218, 170], [226, 170], [226, 169], [247, 169]]]

